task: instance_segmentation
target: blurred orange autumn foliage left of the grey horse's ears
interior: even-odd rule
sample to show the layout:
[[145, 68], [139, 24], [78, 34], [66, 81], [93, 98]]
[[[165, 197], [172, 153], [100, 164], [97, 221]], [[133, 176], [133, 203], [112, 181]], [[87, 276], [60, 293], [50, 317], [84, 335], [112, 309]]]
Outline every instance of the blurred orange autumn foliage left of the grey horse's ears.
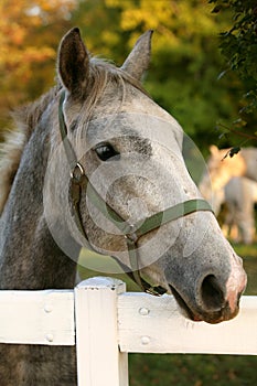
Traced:
[[9, 109], [53, 84], [56, 45], [74, 6], [74, 0], [0, 1], [1, 127]]

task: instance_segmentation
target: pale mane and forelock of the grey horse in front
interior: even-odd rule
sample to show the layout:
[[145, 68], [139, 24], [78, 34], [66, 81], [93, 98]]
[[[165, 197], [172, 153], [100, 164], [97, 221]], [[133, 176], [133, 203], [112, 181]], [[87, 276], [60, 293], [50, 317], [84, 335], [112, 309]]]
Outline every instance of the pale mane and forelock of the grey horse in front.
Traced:
[[[108, 82], [115, 82], [122, 86], [125, 90], [125, 83], [129, 83], [133, 87], [147, 94], [140, 82], [131, 77], [128, 73], [116, 67], [107, 61], [99, 58], [90, 58], [90, 93], [86, 100], [87, 116], [97, 104]], [[51, 88], [38, 100], [30, 103], [23, 107], [18, 108], [13, 114], [15, 129], [7, 132], [6, 141], [0, 144], [0, 214], [3, 211], [4, 204], [8, 200], [11, 186], [19, 169], [20, 160], [23, 149], [30, 139], [36, 124], [41, 119], [42, 114], [47, 106], [53, 101], [61, 89], [61, 85]]]

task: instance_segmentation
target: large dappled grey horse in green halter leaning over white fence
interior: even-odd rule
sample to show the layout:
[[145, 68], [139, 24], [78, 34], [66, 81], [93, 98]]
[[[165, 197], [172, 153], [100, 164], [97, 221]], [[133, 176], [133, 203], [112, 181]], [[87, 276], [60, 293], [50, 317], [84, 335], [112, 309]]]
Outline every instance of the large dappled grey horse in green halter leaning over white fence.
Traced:
[[[72, 29], [56, 85], [17, 111], [2, 149], [0, 288], [72, 289], [86, 246], [152, 296], [172, 292], [189, 319], [218, 323], [238, 313], [246, 274], [188, 172], [182, 128], [141, 85], [151, 35], [117, 67]], [[1, 344], [0, 378], [75, 386], [75, 350]]]

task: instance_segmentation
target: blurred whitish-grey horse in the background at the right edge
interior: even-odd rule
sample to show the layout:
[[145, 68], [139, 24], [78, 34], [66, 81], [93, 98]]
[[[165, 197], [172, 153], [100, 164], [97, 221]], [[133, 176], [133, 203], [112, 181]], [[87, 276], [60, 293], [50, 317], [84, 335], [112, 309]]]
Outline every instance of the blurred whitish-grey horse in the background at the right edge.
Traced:
[[222, 226], [225, 235], [235, 242], [251, 244], [255, 236], [255, 204], [257, 203], [257, 182], [245, 176], [233, 176], [224, 187], [213, 192], [212, 206], [215, 215], [226, 204]]

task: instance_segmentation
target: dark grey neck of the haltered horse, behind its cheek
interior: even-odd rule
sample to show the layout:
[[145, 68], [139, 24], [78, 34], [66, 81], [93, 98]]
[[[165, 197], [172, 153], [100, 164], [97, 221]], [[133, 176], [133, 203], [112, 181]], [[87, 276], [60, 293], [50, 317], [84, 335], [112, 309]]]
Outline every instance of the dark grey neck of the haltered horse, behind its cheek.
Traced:
[[43, 211], [47, 129], [38, 127], [26, 144], [1, 217], [0, 288], [43, 289], [74, 286], [76, 264], [49, 232]]

